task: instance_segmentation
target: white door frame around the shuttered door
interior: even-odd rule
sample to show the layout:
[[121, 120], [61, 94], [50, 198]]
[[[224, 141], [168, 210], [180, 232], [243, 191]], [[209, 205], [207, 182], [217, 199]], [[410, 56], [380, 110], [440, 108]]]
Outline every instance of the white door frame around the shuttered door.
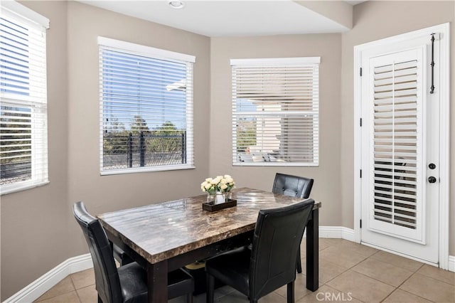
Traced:
[[[439, 106], [439, 267], [449, 269], [449, 201], [450, 201], [450, 23], [443, 23], [418, 31], [403, 33], [378, 41], [354, 46], [354, 240], [360, 243], [362, 218], [361, 203], [361, 155], [362, 134], [360, 119], [362, 118], [362, 52], [370, 48], [380, 48], [385, 44], [400, 43], [414, 38], [441, 33], [440, 59], [446, 64], [440, 66], [440, 83], [437, 83], [440, 93]], [[436, 63], [437, 64], [437, 63]], [[437, 88], [438, 89], [438, 88]], [[396, 253], [396, 252], [395, 252]], [[422, 261], [422, 260], [420, 260]]]

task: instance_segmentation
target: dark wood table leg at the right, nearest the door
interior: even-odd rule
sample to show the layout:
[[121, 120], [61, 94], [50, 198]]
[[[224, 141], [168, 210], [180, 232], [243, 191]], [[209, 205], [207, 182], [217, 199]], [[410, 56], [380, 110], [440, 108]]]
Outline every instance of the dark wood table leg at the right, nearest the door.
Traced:
[[319, 208], [306, 225], [306, 288], [311, 292], [319, 288]]

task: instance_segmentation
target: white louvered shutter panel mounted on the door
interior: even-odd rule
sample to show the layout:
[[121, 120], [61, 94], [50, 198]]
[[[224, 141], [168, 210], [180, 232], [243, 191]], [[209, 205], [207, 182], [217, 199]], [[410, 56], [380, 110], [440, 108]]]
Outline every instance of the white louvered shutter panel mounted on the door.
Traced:
[[408, 240], [422, 235], [422, 51], [372, 61], [371, 228]]

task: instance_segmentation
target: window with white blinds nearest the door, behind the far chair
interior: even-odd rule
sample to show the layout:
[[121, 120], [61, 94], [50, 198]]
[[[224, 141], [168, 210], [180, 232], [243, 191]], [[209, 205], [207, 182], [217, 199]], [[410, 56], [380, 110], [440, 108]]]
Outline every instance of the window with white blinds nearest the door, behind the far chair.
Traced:
[[319, 165], [319, 62], [231, 60], [233, 165]]

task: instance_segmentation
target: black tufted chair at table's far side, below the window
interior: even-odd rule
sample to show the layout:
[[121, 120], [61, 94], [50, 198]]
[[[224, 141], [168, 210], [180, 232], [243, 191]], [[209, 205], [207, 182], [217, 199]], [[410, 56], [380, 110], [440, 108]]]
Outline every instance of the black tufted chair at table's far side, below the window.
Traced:
[[[302, 176], [292, 176], [288, 174], [277, 173], [273, 182], [273, 193], [282, 193], [285, 196], [296, 198], [309, 198], [311, 188], [313, 188], [314, 179]], [[301, 273], [301, 255], [300, 250], [296, 261], [297, 272]]]

